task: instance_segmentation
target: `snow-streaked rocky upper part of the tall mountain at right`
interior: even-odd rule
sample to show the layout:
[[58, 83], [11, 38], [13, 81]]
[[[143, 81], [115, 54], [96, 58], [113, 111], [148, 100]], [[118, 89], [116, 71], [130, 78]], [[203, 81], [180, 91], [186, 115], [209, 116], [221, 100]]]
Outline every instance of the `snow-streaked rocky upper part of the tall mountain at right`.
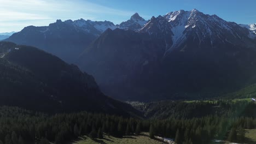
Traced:
[[174, 11], [164, 17], [171, 23], [173, 45], [170, 50], [182, 45], [188, 39], [197, 40], [200, 44], [231, 43], [245, 44], [248, 33], [235, 22], [227, 22], [217, 15], [206, 15], [199, 10]]

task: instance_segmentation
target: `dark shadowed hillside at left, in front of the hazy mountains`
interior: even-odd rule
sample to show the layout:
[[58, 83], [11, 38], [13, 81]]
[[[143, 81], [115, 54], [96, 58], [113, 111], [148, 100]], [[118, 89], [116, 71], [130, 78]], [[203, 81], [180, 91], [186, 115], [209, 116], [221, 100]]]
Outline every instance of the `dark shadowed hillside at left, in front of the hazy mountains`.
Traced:
[[128, 116], [130, 105], [113, 100], [75, 65], [30, 46], [0, 42], [0, 104], [46, 112], [92, 111]]

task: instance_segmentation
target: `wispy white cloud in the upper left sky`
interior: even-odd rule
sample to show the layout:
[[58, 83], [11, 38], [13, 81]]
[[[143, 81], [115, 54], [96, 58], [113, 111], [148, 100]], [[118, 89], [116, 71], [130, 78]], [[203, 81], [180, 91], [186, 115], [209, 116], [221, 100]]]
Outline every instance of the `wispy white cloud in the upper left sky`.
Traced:
[[82, 0], [0, 0], [0, 32], [20, 31], [28, 25], [44, 26], [49, 24], [46, 22], [56, 19], [102, 20], [103, 15], [127, 17], [132, 14], [133, 11], [109, 8]]

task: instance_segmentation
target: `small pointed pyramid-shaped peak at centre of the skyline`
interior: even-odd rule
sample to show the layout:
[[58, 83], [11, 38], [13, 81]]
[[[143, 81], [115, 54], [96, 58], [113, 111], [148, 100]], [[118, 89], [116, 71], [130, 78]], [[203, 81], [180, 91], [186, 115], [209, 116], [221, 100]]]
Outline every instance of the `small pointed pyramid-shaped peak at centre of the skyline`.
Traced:
[[139, 16], [138, 13], [135, 13], [131, 16], [130, 20], [127, 20], [125, 22], [120, 23], [120, 25], [117, 25], [118, 28], [124, 29], [124, 30], [132, 30], [132, 31], [139, 31], [145, 24], [147, 23], [146, 20], [144, 20], [141, 16]]

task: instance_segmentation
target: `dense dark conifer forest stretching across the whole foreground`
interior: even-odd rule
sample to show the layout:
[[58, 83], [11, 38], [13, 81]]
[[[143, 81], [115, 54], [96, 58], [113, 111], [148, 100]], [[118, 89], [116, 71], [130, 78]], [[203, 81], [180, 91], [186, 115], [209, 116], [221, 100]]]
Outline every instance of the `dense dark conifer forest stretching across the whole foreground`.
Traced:
[[[171, 112], [168, 117], [162, 119], [155, 116], [139, 119], [89, 112], [48, 115], [19, 107], [1, 106], [0, 143], [59, 144], [70, 142], [83, 135], [95, 139], [102, 138], [103, 133], [123, 137], [139, 135], [142, 131], [149, 132], [152, 139], [156, 136], [170, 137], [176, 143], [210, 143], [214, 139], [243, 142], [245, 129], [256, 128], [255, 115], [251, 115], [256, 109], [256, 104], [252, 102], [177, 103], [173, 109], [181, 112], [181, 115]], [[222, 112], [211, 111], [201, 116], [198, 116], [196, 111], [191, 112], [193, 107], [203, 109], [202, 105], [218, 106]]]

